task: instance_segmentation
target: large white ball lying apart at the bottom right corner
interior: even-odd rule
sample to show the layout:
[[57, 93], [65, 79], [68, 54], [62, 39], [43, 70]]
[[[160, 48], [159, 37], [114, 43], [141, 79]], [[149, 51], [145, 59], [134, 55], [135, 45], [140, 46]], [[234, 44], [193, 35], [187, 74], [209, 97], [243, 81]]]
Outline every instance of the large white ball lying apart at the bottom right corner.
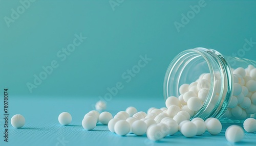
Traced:
[[225, 137], [229, 142], [238, 142], [244, 138], [244, 130], [237, 125], [231, 125], [225, 132]]

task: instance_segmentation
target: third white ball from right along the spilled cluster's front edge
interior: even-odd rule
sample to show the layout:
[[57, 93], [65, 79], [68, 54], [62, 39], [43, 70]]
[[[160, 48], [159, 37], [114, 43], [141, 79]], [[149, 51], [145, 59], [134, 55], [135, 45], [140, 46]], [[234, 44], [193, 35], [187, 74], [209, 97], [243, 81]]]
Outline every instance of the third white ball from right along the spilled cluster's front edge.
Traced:
[[193, 137], [196, 136], [197, 134], [197, 126], [192, 123], [191, 121], [188, 121], [184, 123], [181, 126], [180, 132], [185, 136], [185, 137]]

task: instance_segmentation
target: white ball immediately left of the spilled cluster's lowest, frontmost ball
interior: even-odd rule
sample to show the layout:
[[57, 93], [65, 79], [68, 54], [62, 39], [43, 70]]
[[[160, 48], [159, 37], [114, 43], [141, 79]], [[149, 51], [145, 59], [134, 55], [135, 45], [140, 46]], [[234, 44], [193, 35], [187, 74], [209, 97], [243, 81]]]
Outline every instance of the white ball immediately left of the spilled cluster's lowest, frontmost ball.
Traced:
[[132, 132], [135, 135], [138, 135], [138, 136], [143, 135], [144, 133], [146, 133], [146, 130], [147, 130], [147, 125], [142, 120], [136, 120], [132, 124]]

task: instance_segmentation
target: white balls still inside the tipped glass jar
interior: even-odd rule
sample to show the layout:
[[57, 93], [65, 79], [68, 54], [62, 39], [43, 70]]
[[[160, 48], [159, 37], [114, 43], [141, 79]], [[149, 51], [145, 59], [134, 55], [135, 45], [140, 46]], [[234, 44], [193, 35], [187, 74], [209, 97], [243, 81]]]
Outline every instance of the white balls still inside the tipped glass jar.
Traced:
[[[238, 67], [232, 69], [232, 71], [234, 78], [233, 96], [222, 118], [246, 119], [256, 113], [256, 68], [248, 65], [247, 68]], [[172, 99], [168, 98], [166, 100], [166, 107], [169, 107], [167, 105], [168, 100], [172, 100], [176, 106], [187, 111], [190, 116], [195, 115], [207, 100], [209, 88], [212, 84], [210, 80], [209, 73], [202, 74], [195, 82], [181, 85], [179, 87], [180, 96], [178, 98], [174, 96]], [[215, 76], [215, 85], [214, 93], [216, 96], [209, 102], [207, 109], [204, 111], [205, 115], [210, 113], [220, 100], [220, 74]], [[223, 99], [221, 99], [221, 103], [223, 103]]]

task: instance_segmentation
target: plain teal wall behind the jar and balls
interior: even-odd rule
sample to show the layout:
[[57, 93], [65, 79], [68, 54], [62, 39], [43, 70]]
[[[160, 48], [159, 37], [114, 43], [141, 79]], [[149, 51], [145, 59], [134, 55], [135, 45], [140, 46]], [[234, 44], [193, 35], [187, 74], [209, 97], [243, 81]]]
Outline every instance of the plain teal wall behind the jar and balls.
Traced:
[[[214, 48], [232, 55], [244, 39], [256, 41], [256, 1], [205, 1], [206, 6], [178, 32], [174, 22], [198, 1], [35, 1], [8, 28], [4, 17], [19, 1], [0, 1], [0, 88], [10, 96], [98, 97], [121, 82], [116, 98], [162, 98], [168, 64], [181, 51]], [[87, 39], [63, 62], [56, 57], [75, 34]], [[152, 58], [126, 83], [121, 75]], [[254, 59], [256, 46], [244, 55]], [[30, 93], [27, 82], [57, 60], [59, 67]]]

